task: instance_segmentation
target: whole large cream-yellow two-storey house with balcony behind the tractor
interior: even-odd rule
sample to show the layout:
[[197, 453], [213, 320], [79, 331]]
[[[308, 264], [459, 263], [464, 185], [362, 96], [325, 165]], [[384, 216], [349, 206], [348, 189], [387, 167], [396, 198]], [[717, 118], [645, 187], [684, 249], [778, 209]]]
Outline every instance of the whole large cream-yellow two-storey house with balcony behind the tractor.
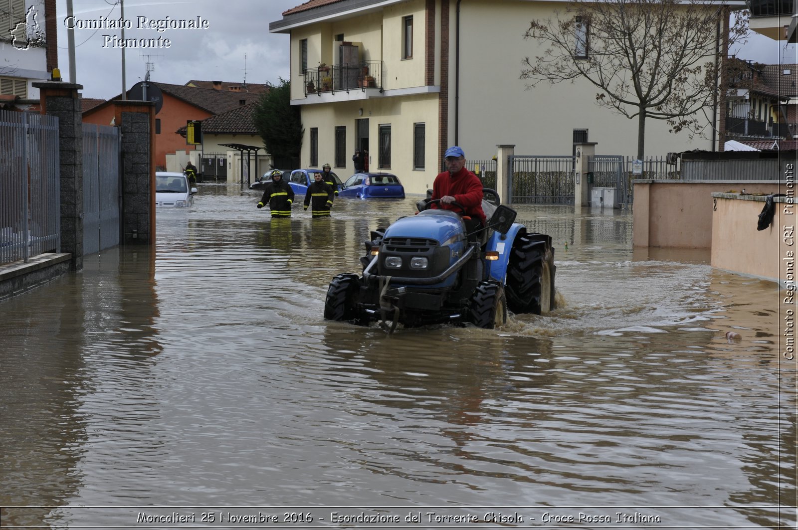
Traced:
[[[732, 2], [742, 9], [744, 2]], [[721, 5], [721, 2], [717, 2]], [[727, 2], [728, 5], [728, 2]], [[570, 155], [573, 142], [597, 153], [634, 155], [638, 122], [596, 105], [584, 80], [527, 89], [524, 57], [542, 45], [524, 40], [533, 19], [566, 2], [543, 0], [310, 0], [271, 22], [290, 35], [292, 105], [302, 106], [301, 164], [354, 172], [356, 148], [369, 170], [393, 172], [410, 193], [431, 188], [448, 145], [488, 160], [496, 145], [516, 153]], [[715, 110], [713, 113], [712, 110]], [[710, 109], [717, 130], [723, 116]], [[711, 134], [674, 134], [646, 123], [652, 154], [713, 150]]]

